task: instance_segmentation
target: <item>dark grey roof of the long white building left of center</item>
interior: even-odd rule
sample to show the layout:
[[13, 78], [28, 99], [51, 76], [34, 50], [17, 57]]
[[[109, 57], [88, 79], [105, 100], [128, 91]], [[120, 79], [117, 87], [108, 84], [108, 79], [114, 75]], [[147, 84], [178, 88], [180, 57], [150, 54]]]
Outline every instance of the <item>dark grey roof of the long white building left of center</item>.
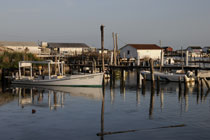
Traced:
[[49, 48], [90, 48], [85, 43], [47, 43]]

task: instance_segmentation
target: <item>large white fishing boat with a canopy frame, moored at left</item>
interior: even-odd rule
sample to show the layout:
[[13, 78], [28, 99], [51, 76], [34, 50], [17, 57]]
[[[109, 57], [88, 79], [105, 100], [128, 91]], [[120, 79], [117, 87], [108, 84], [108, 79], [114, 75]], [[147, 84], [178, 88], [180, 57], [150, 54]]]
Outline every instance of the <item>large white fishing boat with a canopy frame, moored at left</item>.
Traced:
[[[39, 72], [39, 75], [33, 74], [33, 65], [48, 65], [48, 75]], [[58, 73], [51, 75], [51, 65], [55, 65]], [[22, 75], [22, 69], [29, 68], [28, 76]], [[70, 86], [70, 87], [101, 87], [104, 73], [88, 73], [66, 75], [64, 62], [49, 61], [20, 61], [19, 73], [15, 76], [12, 84], [40, 85], [40, 86]]]

